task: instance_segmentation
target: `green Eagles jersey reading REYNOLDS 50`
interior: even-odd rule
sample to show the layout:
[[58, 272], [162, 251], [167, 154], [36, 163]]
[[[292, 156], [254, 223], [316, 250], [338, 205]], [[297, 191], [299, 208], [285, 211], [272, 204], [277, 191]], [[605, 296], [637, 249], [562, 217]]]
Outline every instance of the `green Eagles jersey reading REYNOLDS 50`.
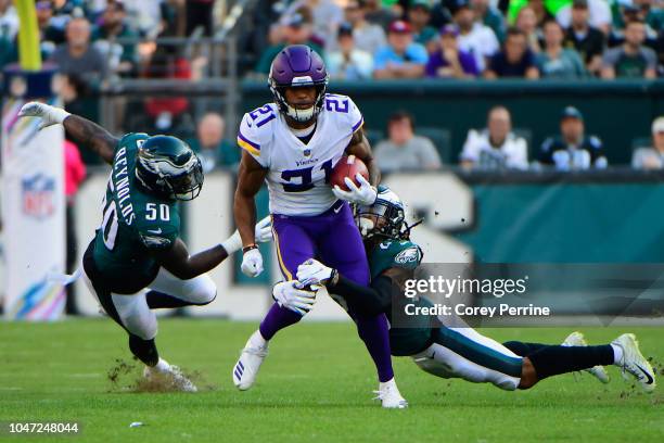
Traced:
[[148, 139], [128, 134], [118, 142], [93, 240], [94, 266], [113, 292], [135, 293], [156, 277], [153, 252], [167, 250], [180, 235], [175, 201], [144, 191], [136, 177], [136, 154]]

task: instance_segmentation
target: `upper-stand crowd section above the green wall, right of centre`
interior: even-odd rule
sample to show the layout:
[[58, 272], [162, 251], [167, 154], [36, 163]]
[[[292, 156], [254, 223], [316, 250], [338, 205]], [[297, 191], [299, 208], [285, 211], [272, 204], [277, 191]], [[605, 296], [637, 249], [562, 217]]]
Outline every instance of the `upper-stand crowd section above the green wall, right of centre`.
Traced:
[[333, 77], [345, 79], [653, 78], [664, 60], [660, 5], [655, 0], [296, 0], [274, 13], [254, 72], [266, 75], [284, 45], [304, 43], [324, 54]]

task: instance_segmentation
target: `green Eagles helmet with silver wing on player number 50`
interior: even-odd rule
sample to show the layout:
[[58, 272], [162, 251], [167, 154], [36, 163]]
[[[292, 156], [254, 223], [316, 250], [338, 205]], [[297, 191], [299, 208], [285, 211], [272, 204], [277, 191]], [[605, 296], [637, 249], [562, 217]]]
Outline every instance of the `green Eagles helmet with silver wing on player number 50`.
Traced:
[[152, 136], [139, 145], [136, 177], [167, 200], [193, 200], [203, 188], [203, 166], [193, 150], [171, 136]]

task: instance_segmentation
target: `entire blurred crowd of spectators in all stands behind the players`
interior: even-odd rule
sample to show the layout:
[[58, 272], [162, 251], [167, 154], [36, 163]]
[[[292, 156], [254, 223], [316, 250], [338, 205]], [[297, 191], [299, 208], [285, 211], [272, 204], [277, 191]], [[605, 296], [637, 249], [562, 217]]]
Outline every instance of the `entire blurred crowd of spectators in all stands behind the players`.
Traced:
[[[209, 76], [204, 53], [157, 45], [157, 38], [212, 36], [231, 4], [38, 0], [42, 58], [63, 74], [67, 110], [99, 119], [95, 92], [112, 79]], [[240, 71], [265, 79], [274, 54], [305, 43], [324, 56], [333, 79], [653, 78], [664, 74], [663, 7], [661, 0], [257, 0], [246, 3], [237, 27]], [[15, 8], [0, 0], [1, 66], [17, 60], [17, 30]], [[120, 101], [116, 107], [131, 116], [126, 129], [188, 138], [206, 170], [238, 165], [233, 130], [226, 130], [219, 110], [193, 112], [187, 97]], [[395, 113], [385, 126], [371, 139], [384, 172], [436, 169], [449, 161], [440, 159], [436, 134], [418, 134], [408, 113]], [[664, 123], [652, 128], [652, 140], [633, 147], [635, 168], [664, 166]], [[600, 136], [586, 131], [578, 110], [566, 107], [560, 135], [535, 147], [512, 128], [510, 110], [496, 106], [485, 128], [469, 129], [451, 162], [483, 169], [603, 168], [611, 159]], [[85, 153], [84, 161], [90, 161]]]

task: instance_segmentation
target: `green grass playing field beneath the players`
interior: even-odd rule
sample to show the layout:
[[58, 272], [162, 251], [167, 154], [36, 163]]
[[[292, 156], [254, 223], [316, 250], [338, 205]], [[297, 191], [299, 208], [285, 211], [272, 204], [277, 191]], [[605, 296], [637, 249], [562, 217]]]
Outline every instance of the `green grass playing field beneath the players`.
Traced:
[[[406, 410], [372, 402], [372, 365], [349, 324], [305, 322], [280, 333], [257, 384], [239, 392], [231, 368], [254, 324], [163, 319], [162, 356], [200, 371], [205, 392], [126, 392], [108, 381], [130, 360], [124, 332], [107, 319], [0, 322], [0, 420], [78, 421], [81, 441], [664, 441], [662, 387], [652, 395], [610, 368], [602, 385], [565, 375], [525, 392], [436, 379], [395, 362]], [[647, 356], [664, 362], [664, 329], [634, 330]], [[498, 340], [560, 342], [569, 329], [493, 329]], [[617, 336], [585, 330], [590, 342]], [[129, 384], [139, 369], [124, 377]], [[129, 428], [133, 421], [142, 427]], [[43, 441], [43, 436], [0, 440]], [[60, 439], [58, 439], [60, 440]], [[76, 440], [75, 440], [76, 441]]]

